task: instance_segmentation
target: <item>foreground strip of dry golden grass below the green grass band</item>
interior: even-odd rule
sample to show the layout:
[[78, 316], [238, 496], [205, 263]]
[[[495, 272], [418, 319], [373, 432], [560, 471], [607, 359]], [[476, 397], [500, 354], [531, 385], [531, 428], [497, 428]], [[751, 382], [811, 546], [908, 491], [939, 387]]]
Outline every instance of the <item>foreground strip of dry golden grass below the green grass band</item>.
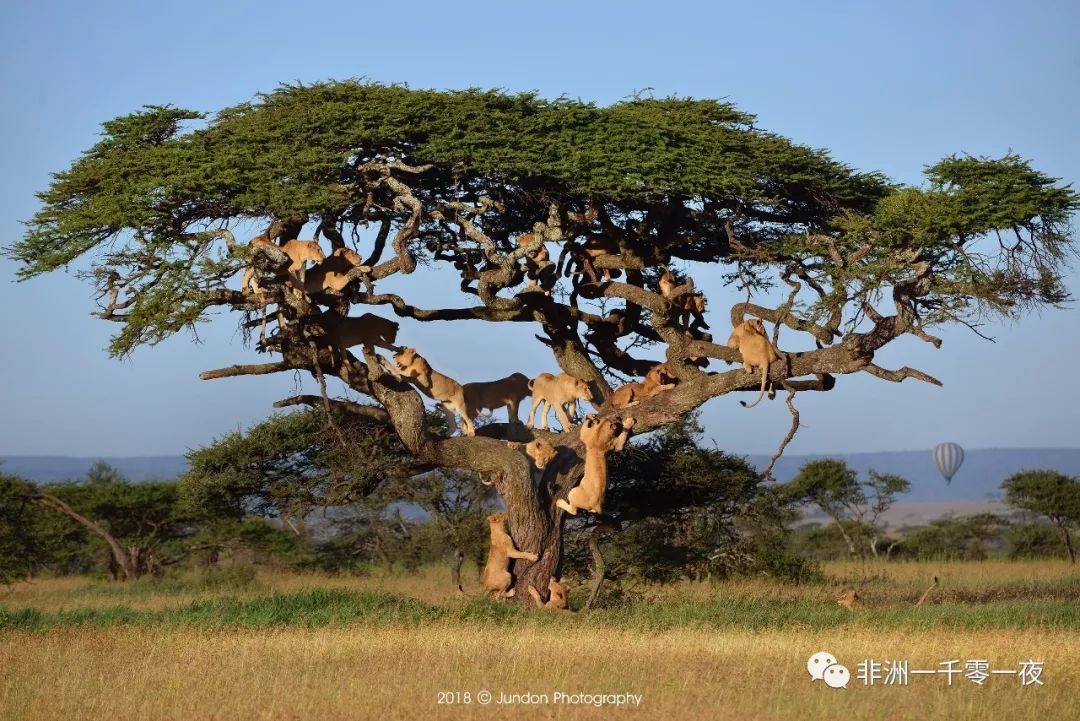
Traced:
[[[907, 688], [847, 690], [811, 682], [823, 649], [854, 672], [863, 657], [987, 658], [998, 667], [1045, 662], [1045, 685], [1013, 677], [986, 686], [917, 677]], [[0, 718], [415, 719], [505, 718], [475, 698], [500, 693], [629, 692], [633, 713], [588, 706], [514, 706], [515, 718], [581, 719], [1048, 719], [1080, 690], [1075, 638], [1044, 632], [953, 635], [833, 631], [580, 629], [507, 631], [472, 624], [418, 629], [338, 628], [240, 632], [113, 628], [22, 634], [0, 641]], [[437, 703], [470, 692], [469, 705]]]

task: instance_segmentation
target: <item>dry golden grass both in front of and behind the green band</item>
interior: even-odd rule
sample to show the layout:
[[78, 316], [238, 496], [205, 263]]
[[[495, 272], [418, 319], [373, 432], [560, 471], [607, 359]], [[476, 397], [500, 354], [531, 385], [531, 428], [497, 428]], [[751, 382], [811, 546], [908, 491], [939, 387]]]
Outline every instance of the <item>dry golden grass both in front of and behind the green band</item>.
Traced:
[[[1057, 562], [833, 563], [828, 581], [780, 586], [768, 581], [675, 584], [647, 588], [658, 603], [707, 602], [717, 596], [779, 599], [798, 608], [835, 611], [837, 589], [859, 584], [874, 597], [905, 600], [942, 579], [942, 594], [970, 594], [971, 613], [993, 610], [1000, 589], [1056, 593], [1075, 598], [1077, 572]], [[472, 575], [467, 575], [472, 579]], [[382, 590], [445, 607], [451, 600], [448, 571], [377, 574], [260, 574], [249, 587], [190, 590], [183, 584], [131, 587], [85, 579], [16, 584], [0, 591], [10, 610], [42, 611], [125, 606], [158, 611], [222, 595], [257, 598], [311, 588]], [[1041, 590], [1040, 590], [1041, 589]], [[985, 598], [984, 598], [985, 597]], [[967, 613], [968, 602], [961, 604]], [[942, 607], [945, 608], [945, 607]], [[800, 611], [801, 612], [801, 611]], [[843, 612], [845, 614], [847, 612]], [[909, 613], [909, 612], [908, 612]], [[921, 613], [921, 612], [919, 612]], [[1080, 613], [1080, 603], [1078, 603]], [[427, 616], [424, 616], [427, 617]], [[530, 616], [531, 617], [531, 616]], [[812, 617], [812, 616], [807, 616]], [[842, 616], [845, 620], [847, 615]], [[568, 616], [566, 623], [453, 614], [437, 621], [345, 623], [307, 629], [296, 625], [184, 627], [57, 626], [51, 630], [0, 631], [0, 719], [417, 719], [580, 718], [615, 719], [1038, 719], [1075, 718], [1067, 709], [1080, 693], [1080, 640], [1075, 628], [919, 627], [916, 616], [897, 624], [863, 623], [852, 615], [839, 626], [812, 630], [799, 621], [752, 630], [696, 621], [671, 630], [623, 626], [621, 616]], [[906, 620], [905, 620], [906, 618]], [[826, 620], [827, 621], [827, 620]], [[902, 621], [902, 623], [901, 623]], [[629, 622], [627, 622], [629, 623]], [[1025, 622], [1026, 624], [1026, 622]], [[827, 650], [852, 672], [847, 690], [811, 682], [807, 657]], [[1044, 685], [1020, 688], [1015, 677], [978, 686], [962, 678], [914, 677], [908, 686], [866, 688], [854, 678], [859, 661], [906, 658], [913, 668], [939, 662], [985, 658], [1015, 668], [1029, 658], [1045, 664]], [[476, 694], [633, 693], [639, 708], [552, 704], [483, 707]], [[469, 692], [472, 703], [438, 704], [441, 692]], [[460, 697], [459, 697], [460, 698]]]

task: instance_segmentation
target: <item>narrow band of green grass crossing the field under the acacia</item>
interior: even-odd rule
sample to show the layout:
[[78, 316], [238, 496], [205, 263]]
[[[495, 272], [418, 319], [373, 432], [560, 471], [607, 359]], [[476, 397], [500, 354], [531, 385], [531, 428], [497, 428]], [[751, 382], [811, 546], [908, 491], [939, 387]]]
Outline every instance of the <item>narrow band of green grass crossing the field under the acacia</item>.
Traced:
[[319, 588], [246, 598], [195, 600], [164, 610], [126, 606], [45, 612], [0, 607], [0, 631], [138, 625], [166, 628], [320, 628], [347, 625], [417, 626], [432, 623], [499, 626], [610, 626], [625, 630], [679, 628], [821, 630], [851, 626], [873, 629], [1080, 629], [1076, 601], [1010, 600], [982, 606], [940, 603], [921, 609], [847, 609], [810, 599], [717, 596], [706, 601], [634, 602], [586, 613], [532, 612], [483, 598], [426, 603], [379, 590]]

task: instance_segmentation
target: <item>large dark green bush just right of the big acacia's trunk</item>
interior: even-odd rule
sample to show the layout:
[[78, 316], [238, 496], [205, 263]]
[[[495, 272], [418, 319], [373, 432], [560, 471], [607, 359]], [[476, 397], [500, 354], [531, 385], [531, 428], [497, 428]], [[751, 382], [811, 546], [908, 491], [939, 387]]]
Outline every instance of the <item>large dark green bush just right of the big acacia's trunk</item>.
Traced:
[[[631, 583], [812, 577], [789, 547], [784, 525], [794, 515], [784, 499], [743, 459], [701, 446], [700, 435], [690, 416], [609, 459], [604, 509], [622, 526], [603, 535], [610, 574]], [[569, 552], [571, 569], [590, 562], [583, 545]]]

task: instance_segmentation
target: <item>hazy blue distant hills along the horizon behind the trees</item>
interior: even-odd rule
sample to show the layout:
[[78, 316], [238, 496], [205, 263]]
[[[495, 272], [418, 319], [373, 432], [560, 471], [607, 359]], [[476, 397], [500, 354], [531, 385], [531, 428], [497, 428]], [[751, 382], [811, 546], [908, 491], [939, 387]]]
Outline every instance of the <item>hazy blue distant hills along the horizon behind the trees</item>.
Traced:
[[[767, 455], [750, 455], [758, 468], [769, 462]], [[778, 480], [789, 480], [799, 467], [811, 459], [842, 458], [865, 473], [874, 468], [893, 473], [912, 481], [912, 491], [903, 495], [904, 503], [950, 503], [989, 501], [1001, 496], [1001, 481], [1025, 468], [1054, 468], [1070, 476], [1080, 476], [1080, 448], [983, 448], [966, 450], [963, 466], [946, 485], [930, 458], [930, 450], [882, 451], [876, 453], [836, 453], [784, 455], [777, 462]], [[39, 482], [81, 478], [90, 466], [103, 460], [132, 480], [175, 478], [188, 468], [183, 455], [148, 455], [136, 458], [72, 458], [67, 455], [0, 455], [0, 472]]]

